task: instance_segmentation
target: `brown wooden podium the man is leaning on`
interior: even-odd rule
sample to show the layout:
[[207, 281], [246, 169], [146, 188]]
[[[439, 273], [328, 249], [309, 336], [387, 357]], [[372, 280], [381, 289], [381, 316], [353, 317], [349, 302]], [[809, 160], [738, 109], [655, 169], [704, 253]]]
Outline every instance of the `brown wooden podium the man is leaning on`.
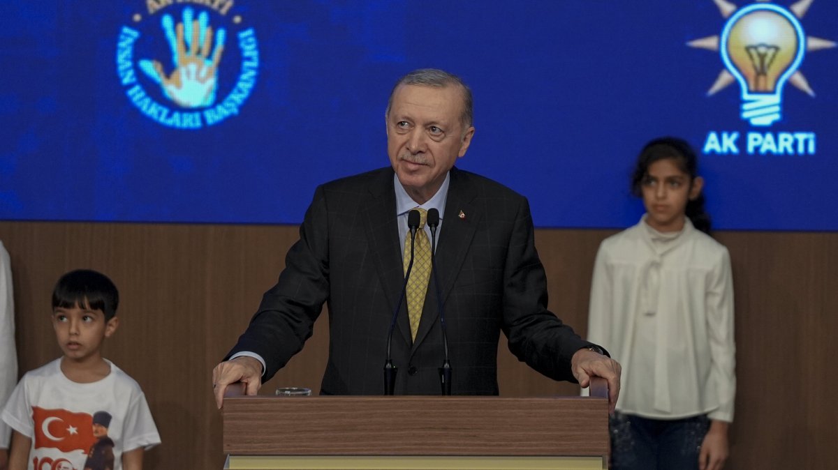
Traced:
[[605, 396], [228, 396], [225, 468], [603, 470]]

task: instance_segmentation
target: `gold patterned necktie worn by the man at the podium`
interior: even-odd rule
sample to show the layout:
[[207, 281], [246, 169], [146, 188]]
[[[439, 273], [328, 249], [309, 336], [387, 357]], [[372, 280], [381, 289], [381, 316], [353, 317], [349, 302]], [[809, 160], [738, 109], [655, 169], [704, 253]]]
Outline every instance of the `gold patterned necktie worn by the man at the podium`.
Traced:
[[[427, 211], [420, 207], [416, 210], [422, 215], [419, 221], [419, 230], [416, 230], [416, 240], [413, 247], [413, 268], [411, 278], [407, 280], [407, 316], [411, 320], [411, 338], [416, 340], [416, 331], [419, 330], [419, 319], [422, 319], [422, 306], [425, 304], [425, 293], [427, 282], [431, 278], [431, 242], [425, 233], [425, 221]], [[407, 273], [407, 265], [411, 262], [411, 234], [405, 237], [404, 271]]]

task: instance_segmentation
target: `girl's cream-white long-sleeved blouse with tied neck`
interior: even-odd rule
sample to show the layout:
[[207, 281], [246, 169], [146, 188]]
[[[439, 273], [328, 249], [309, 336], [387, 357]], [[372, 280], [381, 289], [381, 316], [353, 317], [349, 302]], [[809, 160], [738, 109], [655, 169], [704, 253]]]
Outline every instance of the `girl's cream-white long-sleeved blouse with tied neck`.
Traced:
[[599, 247], [587, 339], [623, 365], [618, 411], [731, 422], [730, 255], [689, 219], [681, 232], [661, 233], [645, 217]]

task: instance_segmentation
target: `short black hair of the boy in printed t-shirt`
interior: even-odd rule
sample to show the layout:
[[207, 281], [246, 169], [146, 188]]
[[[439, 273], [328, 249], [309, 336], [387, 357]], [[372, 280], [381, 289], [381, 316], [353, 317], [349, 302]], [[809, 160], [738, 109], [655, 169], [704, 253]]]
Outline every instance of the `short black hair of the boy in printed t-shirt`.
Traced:
[[59, 278], [53, 289], [53, 309], [101, 310], [105, 321], [116, 315], [119, 292], [105, 274], [92, 269], [76, 269]]

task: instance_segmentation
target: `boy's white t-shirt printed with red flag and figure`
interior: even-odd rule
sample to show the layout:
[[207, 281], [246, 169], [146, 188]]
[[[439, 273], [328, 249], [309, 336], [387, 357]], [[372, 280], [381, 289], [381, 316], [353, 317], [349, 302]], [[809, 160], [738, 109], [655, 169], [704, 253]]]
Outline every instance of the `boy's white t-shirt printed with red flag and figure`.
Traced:
[[[3, 421], [32, 440], [29, 470], [83, 470], [88, 452], [96, 444], [95, 416], [97, 422], [107, 425], [114, 470], [122, 469], [122, 452], [149, 449], [160, 443], [139, 384], [110, 361], [107, 363], [111, 373], [87, 384], [70, 381], [61, 372], [60, 358], [23, 375], [3, 409]], [[103, 439], [96, 447], [101, 449], [103, 444], [111, 446]], [[44, 462], [49, 466], [44, 467]]]

